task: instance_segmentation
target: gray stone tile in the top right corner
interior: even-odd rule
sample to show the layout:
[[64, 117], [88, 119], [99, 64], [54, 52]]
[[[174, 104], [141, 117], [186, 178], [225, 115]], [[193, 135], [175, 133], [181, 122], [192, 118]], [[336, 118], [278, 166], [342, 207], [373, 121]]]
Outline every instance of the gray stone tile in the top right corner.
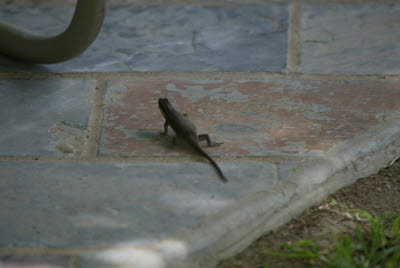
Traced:
[[399, 74], [399, 13], [393, 4], [304, 7], [301, 72]]

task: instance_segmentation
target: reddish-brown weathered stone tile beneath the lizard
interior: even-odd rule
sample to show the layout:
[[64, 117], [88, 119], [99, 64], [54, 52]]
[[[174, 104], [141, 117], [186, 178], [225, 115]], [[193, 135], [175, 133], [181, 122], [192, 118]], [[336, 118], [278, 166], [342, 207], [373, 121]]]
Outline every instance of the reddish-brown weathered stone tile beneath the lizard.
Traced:
[[400, 82], [112, 81], [100, 152], [181, 154], [182, 146], [159, 135], [160, 97], [189, 114], [199, 133], [224, 142], [207, 148], [213, 155], [305, 155], [324, 152], [398, 110]]

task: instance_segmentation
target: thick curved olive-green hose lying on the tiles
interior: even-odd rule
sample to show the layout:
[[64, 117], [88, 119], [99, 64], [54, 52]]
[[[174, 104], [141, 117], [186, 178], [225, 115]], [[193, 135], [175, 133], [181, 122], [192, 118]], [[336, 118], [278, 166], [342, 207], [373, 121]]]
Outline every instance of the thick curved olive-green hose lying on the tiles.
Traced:
[[58, 63], [84, 52], [96, 39], [104, 20], [105, 0], [78, 0], [68, 28], [41, 36], [0, 22], [0, 53], [32, 63]]

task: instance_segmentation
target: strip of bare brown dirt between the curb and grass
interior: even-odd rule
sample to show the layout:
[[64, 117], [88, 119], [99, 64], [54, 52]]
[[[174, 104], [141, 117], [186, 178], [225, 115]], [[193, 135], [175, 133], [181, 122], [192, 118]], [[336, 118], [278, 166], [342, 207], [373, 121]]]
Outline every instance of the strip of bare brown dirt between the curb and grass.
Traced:
[[[332, 199], [337, 201], [334, 206], [329, 205]], [[391, 211], [398, 215], [400, 159], [377, 174], [342, 188], [278, 230], [265, 234], [243, 252], [221, 261], [217, 268], [264, 268], [266, 264], [270, 268], [310, 267], [309, 263], [301, 260], [268, 256], [262, 252], [282, 251], [281, 244], [302, 239], [318, 242], [323, 247], [331, 245], [333, 233], [349, 232], [355, 228], [355, 222], [344, 214], [350, 209], [363, 209], [377, 215]]]

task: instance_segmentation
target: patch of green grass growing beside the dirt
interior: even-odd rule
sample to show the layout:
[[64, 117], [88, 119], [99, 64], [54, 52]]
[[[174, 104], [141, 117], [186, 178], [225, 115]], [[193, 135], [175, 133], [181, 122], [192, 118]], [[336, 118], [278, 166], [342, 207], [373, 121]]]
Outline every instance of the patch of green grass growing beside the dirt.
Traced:
[[357, 223], [351, 234], [335, 237], [330, 249], [310, 240], [283, 244], [284, 252], [265, 251], [265, 254], [304, 259], [314, 267], [369, 268], [400, 267], [400, 216], [383, 217], [362, 210], [351, 210]]

